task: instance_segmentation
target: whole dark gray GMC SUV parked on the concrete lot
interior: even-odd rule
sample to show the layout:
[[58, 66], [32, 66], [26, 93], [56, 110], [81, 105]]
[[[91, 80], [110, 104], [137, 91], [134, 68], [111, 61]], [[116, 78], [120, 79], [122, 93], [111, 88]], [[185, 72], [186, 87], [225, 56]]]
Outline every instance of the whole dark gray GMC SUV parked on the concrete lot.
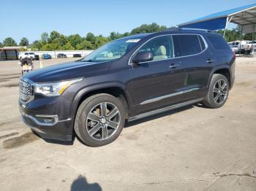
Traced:
[[20, 113], [44, 139], [77, 135], [99, 147], [117, 139], [125, 120], [198, 102], [223, 106], [235, 58], [225, 39], [208, 31], [127, 36], [86, 58], [23, 75]]

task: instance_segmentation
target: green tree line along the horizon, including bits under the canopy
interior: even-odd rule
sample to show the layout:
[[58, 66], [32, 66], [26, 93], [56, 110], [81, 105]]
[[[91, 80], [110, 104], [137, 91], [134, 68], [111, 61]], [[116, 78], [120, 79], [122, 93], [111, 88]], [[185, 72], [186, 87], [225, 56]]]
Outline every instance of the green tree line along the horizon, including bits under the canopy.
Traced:
[[[137, 28], [132, 29], [130, 32], [120, 34], [118, 32], [111, 32], [109, 36], [95, 36], [92, 33], [88, 33], [85, 36], [80, 36], [79, 34], [72, 34], [65, 36], [60, 34], [58, 31], [51, 31], [50, 34], [43, 33], [41, 38], [29, 44], [29, 40], [26, 37], [20, 39], [20, 43], [17, 44], [14, 39], [7, 37], [3, 42], [0, 42], [0, 47], [13, 47], [13, 46], [26, 46], [31, 48], [31, 50], [95, 50], [101, 47], [103, 44], [110, 42], [115, 39], [119, 39], [124, 36], [129, 36], [133, 34], [143, 34], [143, 33], [154, 33], [159, 31], [164, 31], [167, 29], [166, 26], [159, 26], [157, 23], [143, 24]], [[245, 34], [241, 36], [241, 28], [233, 28], [232, 30], [227, 30], [225, 33], [225, 39], [227, 42], [235, 41], [241, 39], [252, 40], [252, 34]], [[222, 30], [217, 31], [219, 34], [223, 34]], [[255, 34], [256, 38], [256, 34]]]

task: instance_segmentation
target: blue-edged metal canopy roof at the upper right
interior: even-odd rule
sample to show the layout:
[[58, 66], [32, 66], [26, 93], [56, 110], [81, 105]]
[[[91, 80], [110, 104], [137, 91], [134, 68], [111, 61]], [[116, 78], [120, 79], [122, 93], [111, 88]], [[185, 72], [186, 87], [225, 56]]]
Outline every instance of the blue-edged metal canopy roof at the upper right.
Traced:
[[[227, 18], [229, 20], [227, 20]], [[240, 26], [251, 26], [256, 24], [256, 4], [246, 5], [234, 9], [228, 9], [211, 15], [191, 20], [187, 23], [179, 24], [179, 27], [189, 28], [205, 28], [210, 30], [218, 30], [226, 27], [228, 22], [236, 23]]]

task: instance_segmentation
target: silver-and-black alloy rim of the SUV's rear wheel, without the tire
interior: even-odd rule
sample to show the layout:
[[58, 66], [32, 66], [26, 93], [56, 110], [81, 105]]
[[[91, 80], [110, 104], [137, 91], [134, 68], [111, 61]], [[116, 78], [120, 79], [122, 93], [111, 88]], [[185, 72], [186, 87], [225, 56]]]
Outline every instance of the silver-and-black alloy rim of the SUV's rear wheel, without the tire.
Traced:
[[216, 104], [222, 104], [227, 98], [227, 82], [223, 79], [219, 79], [214, 85], [214, 102]]

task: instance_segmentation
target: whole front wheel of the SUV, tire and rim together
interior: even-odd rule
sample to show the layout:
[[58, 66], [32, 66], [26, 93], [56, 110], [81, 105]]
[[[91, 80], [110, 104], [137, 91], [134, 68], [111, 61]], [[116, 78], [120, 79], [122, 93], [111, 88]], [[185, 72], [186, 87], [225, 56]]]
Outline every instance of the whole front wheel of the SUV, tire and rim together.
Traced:
[[[115, 113], [116, 115], [113, 115]], [[80, 104], [74, 129], [84, 144], [101, 147], [118, 138], [124, 128], [124, 122], [125, 110], [121, 101], [113, 95], [100, 93], [86, 98]]]

